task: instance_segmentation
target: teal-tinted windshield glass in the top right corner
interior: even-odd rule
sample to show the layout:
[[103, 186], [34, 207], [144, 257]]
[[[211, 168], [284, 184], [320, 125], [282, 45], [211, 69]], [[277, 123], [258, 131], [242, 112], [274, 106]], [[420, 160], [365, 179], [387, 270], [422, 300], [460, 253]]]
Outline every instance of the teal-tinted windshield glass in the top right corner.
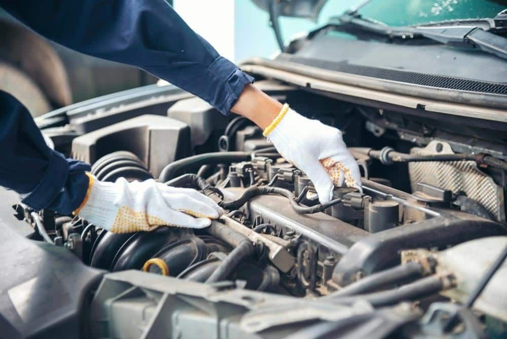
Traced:
[[492, 18], [505, 8], [506, 0], [372, 0], [358, 13], [389, 26], [410, 26], [444, 20]]

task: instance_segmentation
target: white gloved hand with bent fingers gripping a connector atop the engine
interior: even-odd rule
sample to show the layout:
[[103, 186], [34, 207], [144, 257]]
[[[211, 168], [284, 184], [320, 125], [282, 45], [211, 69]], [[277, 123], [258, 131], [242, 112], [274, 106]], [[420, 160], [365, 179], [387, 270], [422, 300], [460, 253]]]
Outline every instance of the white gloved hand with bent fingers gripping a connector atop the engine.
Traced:
[[307, 119], [285, 104], [264, 136], [310, 178], [321, 204], [330, 201], [334, 186], [344, 182], [361, 190], [359, 166], [337, 128]]

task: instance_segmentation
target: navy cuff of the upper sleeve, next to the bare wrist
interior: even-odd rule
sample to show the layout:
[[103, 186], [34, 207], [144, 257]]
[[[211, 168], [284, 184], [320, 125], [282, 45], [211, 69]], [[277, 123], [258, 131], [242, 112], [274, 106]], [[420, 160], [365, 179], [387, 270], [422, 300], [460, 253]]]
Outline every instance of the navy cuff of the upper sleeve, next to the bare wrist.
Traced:
[[208, 71], [219, 78], [220, 82], [215, 88], [214, 102], [210, 104], [222, 114], [228, 115], [244, 87], [253, 83], [255, 79], [243, 73], [237, 65], [222, 56], [209, 65]]

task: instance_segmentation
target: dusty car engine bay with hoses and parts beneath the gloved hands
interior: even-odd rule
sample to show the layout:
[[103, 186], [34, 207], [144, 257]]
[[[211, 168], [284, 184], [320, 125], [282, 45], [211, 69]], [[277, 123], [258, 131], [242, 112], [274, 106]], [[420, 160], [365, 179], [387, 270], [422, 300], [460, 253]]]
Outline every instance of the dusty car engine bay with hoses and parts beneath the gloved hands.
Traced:
[[34, 227], [28, 238], [109, 272], [91, 288], [91, 337], [326, 337], [343, 322], [350, 337], [507, 328], [505, 264], [473, 311], [460, 306], [507, 246], [501, 132], [258, 86], [342, 130], [362, 192], [336, 187], [320, 204], [259, 127], [171, 86], [38, 120], [55, 149], [90, 162], [99, 180], [194, 188], [226, 211], [204, 229], [113, 234], [18, 204]]

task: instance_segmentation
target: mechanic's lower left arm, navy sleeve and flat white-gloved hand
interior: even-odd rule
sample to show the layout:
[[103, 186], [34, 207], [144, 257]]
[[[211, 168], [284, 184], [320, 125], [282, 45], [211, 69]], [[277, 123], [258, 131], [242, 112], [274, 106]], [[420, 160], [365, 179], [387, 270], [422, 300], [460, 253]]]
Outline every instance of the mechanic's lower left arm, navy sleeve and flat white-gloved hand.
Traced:
[[222, 209], [187, 188], [154, 180], [127, 183], [95, 181], [90, 165], [50, 149], [30, 113], [14, 96], [0, 90], [0, 186], [23, 196], [35, 210], [78, 213], [116, 233], [149, 231], [161, 225], [201, 228]]

